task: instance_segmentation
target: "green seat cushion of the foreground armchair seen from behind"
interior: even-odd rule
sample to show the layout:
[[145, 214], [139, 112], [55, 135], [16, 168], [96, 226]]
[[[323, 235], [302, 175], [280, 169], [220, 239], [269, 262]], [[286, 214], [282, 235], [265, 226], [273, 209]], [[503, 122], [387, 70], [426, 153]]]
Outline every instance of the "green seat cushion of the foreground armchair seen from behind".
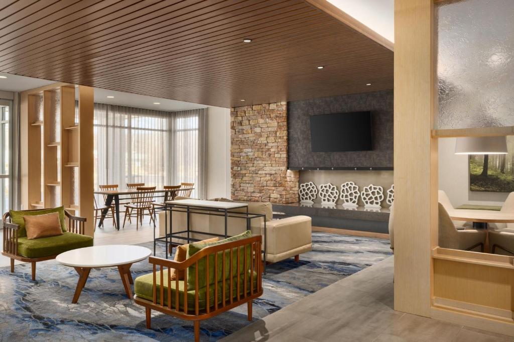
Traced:
[[[250, 272], [248, 272], [248, 275], [247, 275], [247, 279], [246, 279], [246, 283], [247, 283], [247, 294], [249, 295], [250, 294], [250, 281], [251, 281], [251, 276], [250, 276]], [[163, 305], [167, 306], [168, 305], [168, 269], [165, 269], [163, 272], [162, 272], [162, 276], [163, 276], [163, 283], [164, 283], [164, 287], [163, 287], [163, 297], [164, 297], [164, 303]], [[160, 304], [160, 271], [157, 271], [156, 272], [156, 287], [157, 287], [157, 291], [156, 291], [156, 295], [157, 295], [157, 304]], [[145, 274], [145, 275], [141, 275], [139, 277], [137, 277], [135, 280], [134, 280], [134, 292], [136, 293], [136, 295], [140, 298], [143, 298], [143, 299], [147, 299], [147, 300], [153, 300], [153, 273], [148, 273], [148, 274]], [[237, 299], [237, 278], [233, 278], [232, 279], [233, 283], [232, 283], [232, 298], [235, 298]], [[178, 281], [178, 305], [179, 305], [179, 309], [182, 309], [183, 310], [183, 304], [184, 304], [184, 281], [183, 280], [179, 280]], [[255, 290], [256, 289], [256, 286], [257, 286], [257, 272], [253, 272], [253, 289]], [[170, 283], [170, 287], [171, 287], [171, 304], [172, 304], [172, 308], [175, 309], [176, 307], [176, 282], [175, 280], [172, 280], [171, 283]], [[193, 290], [189, 290], [190, 287], [188, 287], [188, 310], [194, 310], [195, 308], [195, 291], [194, 289]], [[214, 286], [209, 286], [209, 305], [210, 306], [214, 306]], [[244, 288], [244, 277], [242, 277], [240, 279], [240, 296], [242, 296], [245, 292], [245, 288]], [[225, 283], [225, 301], [226, 303], [230, 303], [230, 281], [226, 281]], [[200, 288], [198, 290], [198, 309], [199, 310], [205, 310], [206, 308], [206, 305], [207, 305], [207, 298], [206, 298], [206, 295], [207, 295], [207, 288], [204, 287], [204, 288]], [[223, 301], [223, 282], [222, 281], [218, 281], [218, 293], [217, 293], [217, 297], [218, 297], [218, 304], [222, 303]]]

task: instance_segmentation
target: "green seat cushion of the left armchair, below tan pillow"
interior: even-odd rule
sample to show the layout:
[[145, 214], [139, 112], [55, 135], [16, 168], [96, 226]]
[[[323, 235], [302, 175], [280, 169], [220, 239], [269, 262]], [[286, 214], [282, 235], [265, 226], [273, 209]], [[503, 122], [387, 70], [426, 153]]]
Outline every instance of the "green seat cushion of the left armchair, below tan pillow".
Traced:
[[18, 238], [18, 254], [27, 258], [41, 258], [91, 246], [93, 237], [70, 232], [39, 239], [28, 239], [26, 236]]

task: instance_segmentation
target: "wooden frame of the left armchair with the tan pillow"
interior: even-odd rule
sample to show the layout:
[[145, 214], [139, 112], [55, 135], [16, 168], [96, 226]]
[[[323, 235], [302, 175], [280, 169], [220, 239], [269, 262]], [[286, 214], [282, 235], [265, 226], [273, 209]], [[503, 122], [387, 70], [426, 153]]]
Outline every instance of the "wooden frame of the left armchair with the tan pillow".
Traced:
[[[24, 211], [39, 211], [42, 209], [30, 209]], [[64, 211], [64, 215], [68, 218], [68, 232], [84, 235], [85, 217], [71, 215], [68, 211]], [[35, 263], [39, 261], [55, 259], [57, 255], [44, 256], [40, 258], [28, 258], [18, 254], [18, 232], [19, 225], [11, 223], [11, 214], [6, 212], [3, 219], [4, 226], [4, 245], [2, 255], [11, 259], [11, 273], [14, 272], [14, 260], [22, 261], [23, 263], [31, 263], [32, 265], [32, 280], [35, 280]]]

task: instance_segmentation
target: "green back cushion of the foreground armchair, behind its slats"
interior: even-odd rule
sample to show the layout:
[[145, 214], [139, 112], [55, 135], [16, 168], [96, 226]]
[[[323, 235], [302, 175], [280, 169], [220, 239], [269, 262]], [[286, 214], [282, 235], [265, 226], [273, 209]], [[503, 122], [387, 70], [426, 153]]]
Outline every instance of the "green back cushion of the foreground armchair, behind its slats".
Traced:
[[[188, 253], [187, 258], [189, 259], [191, 256], [195, 255], [198, 251], [201, 249], [204, 249], [206, 247], [210, 246], [216, 246], [221, 245], [224, 243], [241, 240], [244, 238], [248, 238], [252, 236], [252, 232], [247, 230], [244, 233], [241, 233], [239, 235], [235, 235], [229, 238], [226, 238], [224, 240], [219, 240], [216, 242], [211, 243], [194, 243], [189, 244], [188, 247]], [[246, 252], [246, 265], [245, 263], [245, 252]], [[222, 281], [223, 276], [223, 251], [220, 251], [217, 253], [217, 262], [218, 262], [218, 279], [217, 281]], [[225, 251], [225, 275], [223, 278], [230, 279], [230, 250]], [[251, 245], [245, 245], [241, 246], [239, 248], [239, 275], [243, 275], [245, 271], [248, 271], [250, 269], [250, 263], [251, 263]], [[196, 282], [196, 267], [193, 265], [191, 267], [188, 267], [187, 269], [187, 276], [188, 276], [188, 289], [194, 289], [195, 282]], [[237, 276], [237, 248], [232, 249], [232, 277]], [[201, 258], [198, 260], [198, 288], [204, 288], [207, 286], [206, 282], [207, 278], [207, 265], [206, 265], [206, 258]], [[214, 284], [214, 254], [209, 255], [209, 285]]]

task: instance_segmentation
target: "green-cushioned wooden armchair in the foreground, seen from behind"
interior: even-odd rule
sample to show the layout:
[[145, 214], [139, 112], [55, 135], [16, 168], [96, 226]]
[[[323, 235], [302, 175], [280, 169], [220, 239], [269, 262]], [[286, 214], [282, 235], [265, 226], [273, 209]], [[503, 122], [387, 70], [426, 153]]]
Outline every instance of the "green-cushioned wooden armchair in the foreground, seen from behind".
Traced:
[[[190, 244], [188, 258], [181, 262], [151, 256], [153, 272], [134, 280], [134, 301], [146, 309], [146, 327], [151, 327], [152, 310], [192, 320], [198, 342], [201, 320], [245, 303], [251, 320], [252, 301], [263, 293], [262, 236], [249, 233]], [[172, 280], [170, 269], [184, 271], [184, 279]]]

